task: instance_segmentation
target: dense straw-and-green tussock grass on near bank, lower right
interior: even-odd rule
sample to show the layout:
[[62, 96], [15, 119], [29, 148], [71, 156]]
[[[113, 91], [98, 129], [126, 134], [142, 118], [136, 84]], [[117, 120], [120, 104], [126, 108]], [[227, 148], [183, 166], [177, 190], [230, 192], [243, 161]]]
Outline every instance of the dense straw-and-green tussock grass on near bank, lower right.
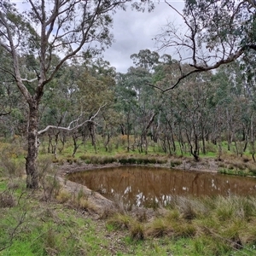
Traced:
[[224, 255], [255, 244], [255, 209], [254, 198], [217, 196], [192, 200], [177, 196], [170, 210], [148, 224], [146, 235], [194, 237], [195, 253]]

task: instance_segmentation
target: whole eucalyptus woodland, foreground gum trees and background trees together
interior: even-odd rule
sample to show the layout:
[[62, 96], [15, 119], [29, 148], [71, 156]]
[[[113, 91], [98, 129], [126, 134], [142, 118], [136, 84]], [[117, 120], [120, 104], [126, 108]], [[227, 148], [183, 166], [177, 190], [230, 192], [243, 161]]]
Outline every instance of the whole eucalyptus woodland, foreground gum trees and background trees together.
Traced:
[[26, 137], [28, 188], [38, 188], [46, 133], [54, 154], [53, 143], [63, 147], [67, 137], [74, 155], [89, 137], [96, 148], [100, 135], [109, 150], [111, 137], [122, 134], [128, 151], [147, 154], [153, 141], [166, 154], [189, 152], [198, 161], [207, 142], [218, 145], [218, 158], [226, 142], [254, 160], [255, 3], [188, 0], [182, 12], [165, 3], [184, 27], [167, 22], [154, 40], [175, 57], [141, 49], [123, 74], [101, 58], [113, 42], [113, 13], [127, 4], [150, 12], [149, 0], [29, 0], [24, 11], [1, 3], [2, 133]]

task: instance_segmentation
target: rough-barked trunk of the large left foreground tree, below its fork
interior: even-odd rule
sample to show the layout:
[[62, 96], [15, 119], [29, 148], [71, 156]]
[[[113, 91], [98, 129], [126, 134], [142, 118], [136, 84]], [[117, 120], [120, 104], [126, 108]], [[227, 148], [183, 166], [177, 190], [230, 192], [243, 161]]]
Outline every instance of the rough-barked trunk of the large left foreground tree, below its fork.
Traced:
[[27, 127], [26, 188], [38, 189], [38, 102], [30, 102]]

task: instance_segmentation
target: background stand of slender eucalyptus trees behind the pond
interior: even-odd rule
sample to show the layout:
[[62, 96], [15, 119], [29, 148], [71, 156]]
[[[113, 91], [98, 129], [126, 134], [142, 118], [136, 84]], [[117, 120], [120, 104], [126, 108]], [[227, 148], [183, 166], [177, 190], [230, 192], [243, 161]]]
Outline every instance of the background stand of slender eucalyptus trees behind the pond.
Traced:
[[[163, 93], [152, 84], [172, 84], [177, 61], [149, 49], [131, 58], [135, 65], [127, 73], [115, 73], [108, 61], [96, 59], [65, 65], [55, 74], [39, 109], [38, 139], [48, 153], [57, 156], [70, 140], [73, 156], [88, 141], [95, 153], [100, 145], [108, 152], [116, 146], [113, 138], [123, 137], [128, 152], [147, 154], [150, 145], [195, 160], [210, 152], [221, 158], [225, 143], [231, 153], [249, 152], [255, 160], [254, 81], [245, 78], [239, 61], [215, 73], [193, 74]], [[26, 137], [26, 104], [15, 84], [4, 79], [1, 137]], [[78, 123], [83, 125], [73, 129]]]

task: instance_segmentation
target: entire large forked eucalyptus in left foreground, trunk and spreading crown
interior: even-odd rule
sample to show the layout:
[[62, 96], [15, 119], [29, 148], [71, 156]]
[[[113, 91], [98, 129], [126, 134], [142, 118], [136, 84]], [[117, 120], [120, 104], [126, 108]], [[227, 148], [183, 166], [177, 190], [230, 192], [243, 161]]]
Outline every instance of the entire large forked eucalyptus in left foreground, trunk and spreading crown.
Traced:
[[[27, 188], [38, 188], [38, 106], [45, 88], [61, 66], [79, 52], [95, 54], [111, 44], [111, 12], [125, 9], [126, 2], [128, 0], [28, 0], [17, 9], [10, 1], [1, 1], [0, 46], [12, 59], [8, 69], [1, 62], [1, 70], [13, 76], [29, 108]], [[133, 4], [140, 9], [139, 3]], [[55, 65], [54, 54], [60, 56]], [[21, 57], [38, 60], [27, 76], [22, 70], [26, 67], [20, 65]]]

